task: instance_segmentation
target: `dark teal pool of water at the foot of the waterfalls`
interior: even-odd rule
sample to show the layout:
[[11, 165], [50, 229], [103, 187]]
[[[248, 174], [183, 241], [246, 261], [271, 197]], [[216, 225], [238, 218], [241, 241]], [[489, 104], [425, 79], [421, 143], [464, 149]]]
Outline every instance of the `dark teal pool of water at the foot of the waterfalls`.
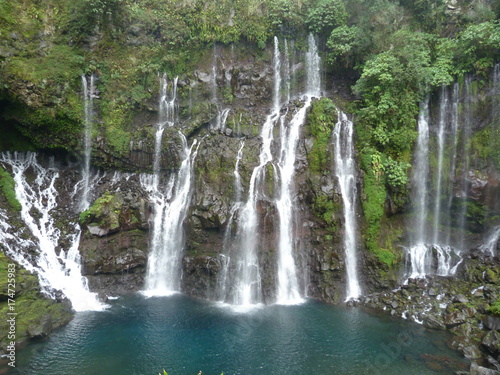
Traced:
[[236, 313], [182, 295], [112, 301], [17, 355], [9, 374], [453, 374], [447, 336], [310, 301]]

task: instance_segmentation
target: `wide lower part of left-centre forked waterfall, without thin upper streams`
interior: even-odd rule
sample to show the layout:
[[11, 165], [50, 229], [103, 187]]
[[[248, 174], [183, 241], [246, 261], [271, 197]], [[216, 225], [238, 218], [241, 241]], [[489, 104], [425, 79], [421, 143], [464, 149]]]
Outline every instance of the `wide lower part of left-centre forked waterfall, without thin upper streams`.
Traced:
[[166, 296], [180, 289], [181, 261], [184, 248], [182, 224], [191, 201], [192, 166], [199, 144], [189, 147], [179, 132], [184, 159], [176, 176], [160, 189], [156, 175], [141, 175], [141, 183], [153, 202], [153, 230], [146, 272], [146, 296]]

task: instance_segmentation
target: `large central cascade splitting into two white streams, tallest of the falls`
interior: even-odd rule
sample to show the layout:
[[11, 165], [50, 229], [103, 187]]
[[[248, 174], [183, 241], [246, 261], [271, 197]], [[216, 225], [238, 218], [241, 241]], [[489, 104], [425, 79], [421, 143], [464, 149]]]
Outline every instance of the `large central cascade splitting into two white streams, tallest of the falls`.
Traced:
[[[226, 250], [225, 268], [223, 279], [225, 286], [222, 299], [234, 305], [251, 307], [262, 302], [261, 274], [258, 258], [259, 230], [257, 203], [263, 194], [266, 169], [273, 169], [274, 183], [278, 186], [278, 198], [274, 203], [279, 215], [279, 243], [276, 277], [276, 301], [279, 304], [297, 304], [303, 302], [300, 293], [300, 283], [297, 277], [297, 265], [294, 258], [295, 241], [295, 213], [293, 178], [295, 174], [295, 154], [300, 135], [300, 128], [303, 125], [308, 108], [312, 102], [312, 96], [319, 95], [321, 89], [319, 66], [320, 59], [317, 53], [314, 38], [309, 38], [309, 51], [306, 54], [307, 66], [307, 95], [305, 103], [293, 116], [289, 123], [286, 123], [286, 114], [280, 116], [280, 105], [282, 97], [289, 100], [290, 93], [290, 69], [288, 60], [288, 47], [285, 45], [285, 69], [283, 69], [284, 80], [282, 79], [282, 62], [279, 50], [278, 38], [274, 38], [273, 56], [273, 106], [271, 114], [266, 118], [262, 127], [260, 137], [262, 147], [259, 155], [259, 165], [254, 168], [250, 177], [248, 198], [245, 203], [237, 202], [231, 211], [228, 228], [225, 234], [225, 248], [229, 247], [228, 238], [231, 236], [232, 221], [238, 218], [238, 229], [236, 238], [229, 252]], [[280, 154], [273, 158], [271, 144], [273, 142], [273, 132], [275, 125], [280, 123]], [[274, 160], [276, 159], [276, 160]], [[239, 159], [238, 159], [239, 160]], [[238, 162], [236, 166], [238, 166]], [[239, 177], [235, 174], [235, 183]], [[238, 188], [236, 187], [239, 197]], [[266, 197], [270, 200], [270, 197]], [[229, 255], [227, 255], [229, 254]]]

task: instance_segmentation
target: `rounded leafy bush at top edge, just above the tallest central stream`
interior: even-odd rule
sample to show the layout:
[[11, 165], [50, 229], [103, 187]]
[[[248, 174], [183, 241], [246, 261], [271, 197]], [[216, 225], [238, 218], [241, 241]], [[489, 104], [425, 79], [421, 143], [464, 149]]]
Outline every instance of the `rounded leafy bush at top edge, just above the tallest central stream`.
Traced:
[[334, 28], [345, 25], [346, 20], [342, 0], [320, 0], [307, 15], [306, 23], [312, 32], [328, 35]]

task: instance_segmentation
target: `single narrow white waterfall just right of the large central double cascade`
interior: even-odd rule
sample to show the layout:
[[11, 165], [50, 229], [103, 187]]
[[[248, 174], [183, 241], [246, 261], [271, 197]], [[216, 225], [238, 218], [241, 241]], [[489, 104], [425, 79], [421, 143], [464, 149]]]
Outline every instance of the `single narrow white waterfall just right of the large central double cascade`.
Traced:
[[347, 270], [346, 301], [358, 298], [361, 287], [357, 272], [356, 254], [356, 163], [354, 160], [353, 123], [345, 113], [338, 112], [333, 129], [335, 175], [339, 181], [344, 204], [344, 249]]

